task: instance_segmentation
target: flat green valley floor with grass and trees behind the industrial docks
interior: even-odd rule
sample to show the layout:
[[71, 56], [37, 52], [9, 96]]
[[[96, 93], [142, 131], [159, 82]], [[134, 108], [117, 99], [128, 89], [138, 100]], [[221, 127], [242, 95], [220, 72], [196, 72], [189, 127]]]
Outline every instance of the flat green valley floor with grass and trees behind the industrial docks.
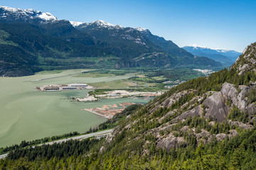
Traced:
[[[78, 76], [84, 77], [111, 77], [113, 75], [122, 75], [124, 70], [93, 70], [85, 72]], [[201, 72], [193, 69], [165, 69], [165, 70], [129, 70], [134, 76], [129, 79], [118, 79], [113, 81], [101, 81], [90, 83], [98, 89], [91, 91], [90, 94], [105, 94], [105, 91], [114, 89], [127, 89], [129, 91], [166, 91], [171, 86], [182, 83], [189, 79], [203, 76]]]

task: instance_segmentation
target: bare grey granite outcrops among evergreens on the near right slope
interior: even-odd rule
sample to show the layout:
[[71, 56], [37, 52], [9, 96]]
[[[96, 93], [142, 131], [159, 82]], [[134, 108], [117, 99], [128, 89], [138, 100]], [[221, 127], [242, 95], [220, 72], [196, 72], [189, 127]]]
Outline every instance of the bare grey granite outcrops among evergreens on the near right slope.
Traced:
[[[251, 84], [250, 86], [238, 86], [236, 87], [234, 84], [224, 83], [222, 85], [222, 88], [220, 91], [209, 91], [206, 93], [206, 96], [208, 96], [203, 103], [200, 105], [192, 108], [191, 110], [185, 111], [181, 113], [180, 115], [177, 115], [176, 118], [173, 118], [169, 121], [169, 123], [165, 123], [161, 126], [161, 128], [154, 128], [149, 131], [151, 135], [154, 135], [156, 137], [156, 147], [166, 149], [166, 151], [169, 151], [172, 148], [176, 148], [181, 145], [186, 145], [186, 140], [183, 137], [177, 137], [176, 131], [172, 130], [172, 126], [177, 125], [180, 122], [184, 122], [187, 118], [194, 116], [199, 116], [208, 119], [213, 118], [213, 120], [216, 120], [217, 122], [221, 123], [228, 119], [228, 114], [234, 106], [236, 108], [239, 108], [242, 112], [247, 113], [253, 113], [251, 116], [250, 124], [256, 120], [254, 114], [256, 113], [255, 103], [249, 103], [247, 102], [247, 94], [252, 90], [255, 89], [256, 86], [254, 84]], [[212, 95], [210, 95], [211, 93]], [[178, 98], [181, 98], [184, 94], [188, 94], [188, 91], [183, 91], [177, 94], [173, 94], [169, 98], [166, 98], [164, 102], [158, 105], [156, 108], [160, 107], [166, 107], [169, 108], [171, 104], [178, 101]], [[182, 95], [181, 95], [182, 94]], [[195, 97], [191, 99], [191, 101], [198, 101], [200, 102], [202, 98]], [[181, 108], [184, 108], [184, 106], [191, 105], [191, 101], [188, 101], [187, 103], [183, 104]], [[162, 123], [162, 120], [168, 116], [174, 116], [175, 113], [178, 113], [178, 109], [174, 109], [172, 111], [169, 111], [166, 113], [162, 118], [159, 118], [158, 122]], [[152, 111], [152, 110], [151, 110]], [[156, 110], [154, 110], [156, 111]], [[154, 112], [153, 111], [153, 112]], [[215, 121], [211, 121], [209, 125], [214, 126]], [[252, 125], [249, 123], [242, 123], [239, 121], [233, 121], [228, 120], [228, 124], [235, 125], [240, 128], [243, 128], [245, 130], [253, 128]], [[169, 131], [169, 134], [166, 135], [166, 130]], [[161, 135], [161, 131], [164, 132], [165, 135]], [[190, 134], [195, 135], [197, 142], [199, 143], [201, 140], [203, 140], [204, 143], [210, 142], [210, 140], [215, 137], [216, 140], [225, 140], [225, 138], [234, 137], [235, 135], [238, 135], [238, 132], [236, 130], [229, 130], [228, 133], [218, 133], [218, 134], [211, 134], [207, 130], [201, 129], [196, 130], [196, 128], [189, 128], [189, 126], [185, 125], [180, 129], [181, 133], [188, 132]], [[147, 134], [149, 134], [147, 133]], [[178, 134], [179, 132], [177, 132]]]

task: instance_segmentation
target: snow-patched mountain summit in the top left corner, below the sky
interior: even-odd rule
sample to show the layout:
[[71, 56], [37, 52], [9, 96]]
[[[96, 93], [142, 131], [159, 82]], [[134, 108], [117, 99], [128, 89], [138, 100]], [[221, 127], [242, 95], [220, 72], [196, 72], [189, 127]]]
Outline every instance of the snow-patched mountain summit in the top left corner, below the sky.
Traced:
[[51, 13], [44, 13], [34, 9], [11, 8], [8, 6], [0, 6], [0, 18], [15, 18], [16, 20], [23, 19], [24, 21], [41, 19], [43, 21], [56, 21], [58, 18]]

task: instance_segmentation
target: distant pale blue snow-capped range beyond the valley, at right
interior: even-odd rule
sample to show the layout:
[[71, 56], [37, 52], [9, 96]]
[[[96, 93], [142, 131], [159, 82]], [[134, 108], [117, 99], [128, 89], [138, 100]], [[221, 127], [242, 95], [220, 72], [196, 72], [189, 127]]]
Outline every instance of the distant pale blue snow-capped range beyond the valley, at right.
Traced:
[[233, 64], [235, 60], [237, 60], [238, 57], [242, 54], [241, 52], [234, 50], [212, 49], [199, 45], [188, 45], [182, 48], [188, 52], [191, 52], [193, 55], [199, 57], [208, 57], [215, 60], [216, 62], [220, 62], [225, 66], [230, 66]]

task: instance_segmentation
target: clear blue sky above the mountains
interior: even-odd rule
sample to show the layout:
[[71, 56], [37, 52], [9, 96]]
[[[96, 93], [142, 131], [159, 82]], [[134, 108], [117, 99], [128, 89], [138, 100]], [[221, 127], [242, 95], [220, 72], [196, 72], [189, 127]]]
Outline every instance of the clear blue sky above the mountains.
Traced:
[[179, 47], [242, 52], [256, 41], [255, 0], [0, 0], [0, 6], [33, 8], [68, 21], [147, 28]]

